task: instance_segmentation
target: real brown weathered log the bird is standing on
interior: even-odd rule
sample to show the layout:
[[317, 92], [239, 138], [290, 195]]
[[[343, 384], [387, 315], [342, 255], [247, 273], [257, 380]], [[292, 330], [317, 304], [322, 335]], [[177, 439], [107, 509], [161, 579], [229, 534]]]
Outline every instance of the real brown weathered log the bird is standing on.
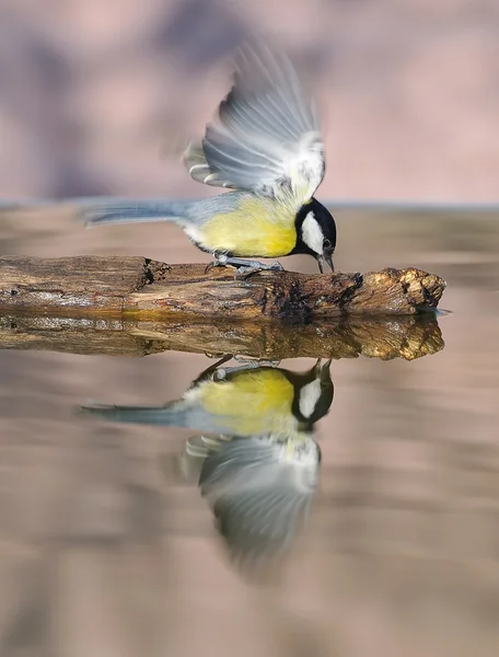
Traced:
[[437, 308], [444, 281], [419, 269], [309, 275], [166, 265], [142, 257], [0, 258], [0, 309], [57, 316], [197, 320], [283, 319], [306, 323], [345, 314], [415, 314]]

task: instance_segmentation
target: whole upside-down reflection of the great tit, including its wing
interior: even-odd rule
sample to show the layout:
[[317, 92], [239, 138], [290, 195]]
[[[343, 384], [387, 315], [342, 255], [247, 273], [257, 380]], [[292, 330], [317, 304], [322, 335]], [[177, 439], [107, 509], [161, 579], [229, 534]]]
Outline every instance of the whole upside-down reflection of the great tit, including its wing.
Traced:
[[[205, 370], [179, 400], [161, 407], [82, 406], [113, 422], [201, 430], [182, 470], [207, 498], [231, 558], [254, 575], [287, 553], [318, 483], [313, 425], [334, 396], [330, 360], [305, 372], [252, 361]], [[212, 434], [209, 436], [208, 434]]]

